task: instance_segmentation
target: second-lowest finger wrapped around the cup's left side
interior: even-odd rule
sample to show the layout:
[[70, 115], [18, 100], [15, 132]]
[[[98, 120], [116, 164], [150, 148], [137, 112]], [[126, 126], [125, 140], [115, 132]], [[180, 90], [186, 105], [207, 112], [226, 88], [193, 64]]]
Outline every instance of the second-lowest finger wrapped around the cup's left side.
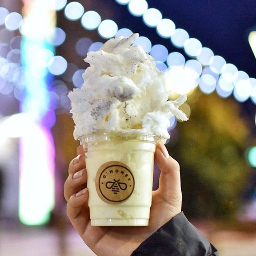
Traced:
[[87, 172], [86, 169], [79, 170], [68, 176], [64, 183], [64, 197], [68, 201], [73, 195], [86, 188]]

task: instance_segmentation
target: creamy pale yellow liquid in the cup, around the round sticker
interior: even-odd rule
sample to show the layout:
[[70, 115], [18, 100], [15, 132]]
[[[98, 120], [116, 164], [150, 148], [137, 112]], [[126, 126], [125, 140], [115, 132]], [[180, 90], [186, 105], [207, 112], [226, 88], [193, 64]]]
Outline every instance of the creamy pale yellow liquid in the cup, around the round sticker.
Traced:
[[[98, 142], [86, 152], [87, 186], [92, 226], [147, 226], [152, 201], [154, 142], [140, 140]], [[102, 164], [118, 161], [134, 175], [134, 190], [120, 204], [108, 204], [98, 196], [96, 173]]]

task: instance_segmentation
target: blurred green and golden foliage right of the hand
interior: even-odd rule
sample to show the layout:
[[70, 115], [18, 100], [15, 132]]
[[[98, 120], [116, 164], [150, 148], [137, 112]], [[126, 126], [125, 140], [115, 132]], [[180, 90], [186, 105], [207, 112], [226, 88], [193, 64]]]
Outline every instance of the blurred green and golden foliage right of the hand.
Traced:
[[250, 171], [244, 151], [249, 128], [239, 103], [199, 91], [188, 97], [190, 120], [167, 146], [181, 167], [182, 210], [192, 218], [234, 218]]

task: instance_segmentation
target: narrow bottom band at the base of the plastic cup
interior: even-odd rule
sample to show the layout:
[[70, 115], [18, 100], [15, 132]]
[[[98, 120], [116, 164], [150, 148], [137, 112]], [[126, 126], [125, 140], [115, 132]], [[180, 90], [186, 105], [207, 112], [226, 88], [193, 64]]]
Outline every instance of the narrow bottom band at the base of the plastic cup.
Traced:
[[148, 226], [148, 219], [94, 219], [92, 226]]

